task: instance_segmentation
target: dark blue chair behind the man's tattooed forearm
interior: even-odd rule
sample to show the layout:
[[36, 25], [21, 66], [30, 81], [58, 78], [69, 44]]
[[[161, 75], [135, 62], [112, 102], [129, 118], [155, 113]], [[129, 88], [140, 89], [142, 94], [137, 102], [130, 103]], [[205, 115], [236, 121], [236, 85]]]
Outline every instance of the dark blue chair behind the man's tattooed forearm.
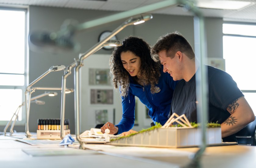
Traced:
[[243, 129], [236, 132], [236, 140], [238, 145], [256, 146], [255, 141], [255, 130], [256, 130], [256, 116], [255, 120]]

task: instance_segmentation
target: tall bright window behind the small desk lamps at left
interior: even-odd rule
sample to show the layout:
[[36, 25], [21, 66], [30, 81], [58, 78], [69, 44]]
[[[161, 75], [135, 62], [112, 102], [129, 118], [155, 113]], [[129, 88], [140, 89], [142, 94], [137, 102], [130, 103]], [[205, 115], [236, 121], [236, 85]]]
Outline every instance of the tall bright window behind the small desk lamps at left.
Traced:
[[[24, 101], [27, 85], [26, 15], [24, 9], [0, 9], [0, 125], [6, 125]], [[17, 124], [25, 123], [24, 110], [24, 107], [20, 109]]]

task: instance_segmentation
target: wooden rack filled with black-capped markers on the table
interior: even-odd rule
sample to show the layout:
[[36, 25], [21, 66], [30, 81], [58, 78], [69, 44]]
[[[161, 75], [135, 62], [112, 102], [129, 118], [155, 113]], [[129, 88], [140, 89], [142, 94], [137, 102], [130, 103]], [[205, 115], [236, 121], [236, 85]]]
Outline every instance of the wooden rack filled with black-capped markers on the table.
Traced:
[[[60, 119], [38, 119], [37, 139], [61, 139]], [[64, 136], [70, 134], [69, 119], [64, 120]]]

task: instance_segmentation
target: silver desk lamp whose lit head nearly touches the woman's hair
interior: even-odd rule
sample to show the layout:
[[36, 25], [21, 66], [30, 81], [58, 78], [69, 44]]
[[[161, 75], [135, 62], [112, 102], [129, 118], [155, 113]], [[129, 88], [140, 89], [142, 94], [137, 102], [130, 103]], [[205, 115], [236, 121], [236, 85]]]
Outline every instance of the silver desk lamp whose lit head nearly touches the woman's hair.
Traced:
[[[95, 50], [93, 53], [97, 52], [104, 46], [122, 46], [123, 42], [119, 40], [108, 40], [104, 44], [102, 44], [97, 50]], [[75, 60], [75, 62], [71, 63], [65, 70], [64, 75], [62, 76], [62, 89], [66, 88], [66, 78], [71, 74], [71, 69], [76, 66], [78, 60]], [[67, 92], [66, 92], [67, 93]], [[65, 137], [64, 135], [64, 119], [65, 119], [65, 99], [66, 94], [62, 92], [61, 94], [61, 119], [60, 119], [60, 137], [63, 139]]]

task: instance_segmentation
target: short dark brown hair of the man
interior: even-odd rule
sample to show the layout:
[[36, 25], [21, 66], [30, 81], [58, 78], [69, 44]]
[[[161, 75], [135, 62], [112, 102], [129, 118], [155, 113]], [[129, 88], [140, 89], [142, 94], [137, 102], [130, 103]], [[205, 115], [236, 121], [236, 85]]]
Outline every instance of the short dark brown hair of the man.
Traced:
[[151, 57], [154, 61], [159, 61], [159, 52], [166, 50], [167, 56], [173, 58], [177, 51], [185, 53], [187, 57], [193, 59], [195, 53], [190, 43], [179, 32], [168, 33], [158, 38], [151, 48]]

